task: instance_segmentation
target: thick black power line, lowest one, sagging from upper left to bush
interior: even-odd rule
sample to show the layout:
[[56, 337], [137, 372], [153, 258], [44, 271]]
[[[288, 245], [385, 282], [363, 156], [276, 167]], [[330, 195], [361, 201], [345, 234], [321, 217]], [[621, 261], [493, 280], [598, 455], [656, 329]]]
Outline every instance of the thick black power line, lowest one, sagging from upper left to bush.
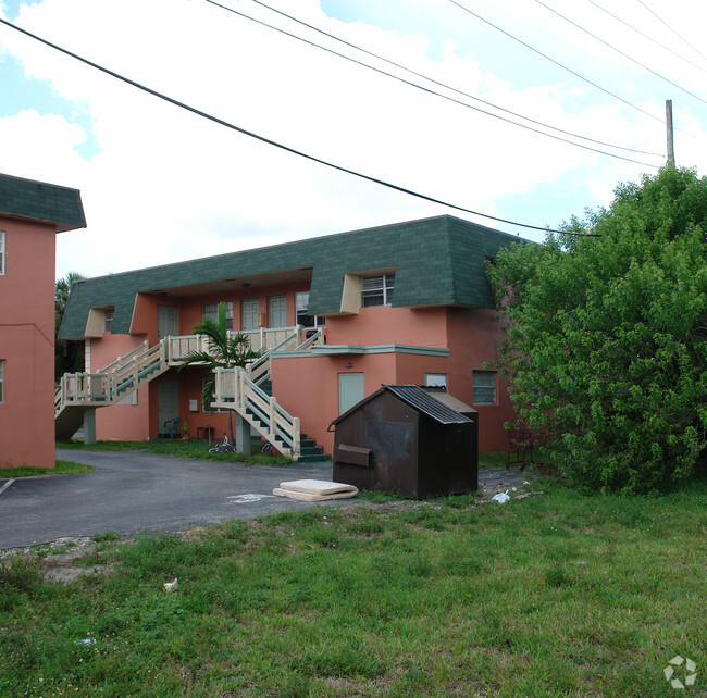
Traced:
[[284, 150], [285, 152], [289, 152], [294, 155], [298, 155], [300, 158], [305, 158], [306, 160], [310, 160], [311, 162], [317, 162], [321, 165], [325, 165], [327, 167], [331, 167], [332, 170], [337, 170], [338, 172], [344, 172], [346, 174], [352, 175], [355, 177], [359, 177], [360, 179], [365, 179], [367, 182], [372, 182], [373, 184], [379, 184], [383, 187], [387, 187], [388, 189], [393, 189], [394, 191], [400, 191], [401, 194], [407, 194], [412, 197], [417, 197], [418, 199], [422, 199], [424, 201], [430, 201], [431, 203], [437, 203], [439, 205], [444, 205], [450, 209], [455, 209], [456, 211], [462, 211], [464, 213], [470, 213], [472, 215], [480, 216], [482, 219], [488, 219], [489, 221], [496, 221], [497, 223], [506, 223], [508, 225], [514, 225], [518, 227], [522, 228], [529, 228], [532, 230], [542, 230], [543, 233], [565, 233], [567, 235], [578, 235], [581, 237], [599, 237], [596, 234], [593, 233], [568, 233], [567, 230], [555, 230], [549, 227], [541, 227], [537, 225], [530, 225], [528, 223], [518, 223], [516, 221], [509, 221], [507, 219], [500, 219], [494, 215], [488, 215], [487, 213], [480, 213], [479, 211], [474, 211], [472, 209], [467, 209], [461, 205], [457, 205], [455, 203], [448, 203], [447, 201], [442, 201], [441, 199], [435, 199], [434, 197], [430, 197], [424, 194], [420, 194], [418, 191], [413, 191], [412, 189], [407, 189], [405, 187], [398, 186], [396, 184], [392, 184], [389, 182], [385, 182], [384, 179], [379, 179], [377, 177], [373, 177], [371, 175], [365, 175], [360, 172], [357, 172], [355, 170], [349, 170], [348, 167], [344, 167], [342, 165], [334, 164], [332, 162], [328, 162], [326, 160], [322, 160], [320, 158], [317, 158], [314, 155], [310, 155], [306, 152], [302, 152], [300, 150], [297, 150], [295, 148], [290, 148], [289, 146], [285, 146], [283, 144], [280, 144], [275, 140], [272, 140], [270, 138], [266, 138], [264, 136], [260, 136], [258, 134], [255, 134], [250, 130], [247, 130], [245, 128], [241, 128], [240, 126], [236, 126], [235, 124], [232, 124], [227, 121], [224, 121], [222, 119], [219, 119], [218, 116], [213, 116], [212, 114], [209, 114], [207, 112], [203, 112], [199, 109], [196, 109], [196, 107], [190, 107], [189, 104], [186, 104], [184, 102], [181, 102], [172, 97], [168, 97], [166, 95], [163, 95], [162, 92], [158, 92], [157, 90], [153, 90], [150, 87], [147, 87], [146, 85], [142, 85], [140, 83], [137, 83], [135, 80], [132, 80], [128, 77], [125, 77], [121, 75], [120, 73], [115, 73], [107, 67], [103, 67], [102, 65], [99, 65], [98, 63], [94, 63], [92, 61], [89, 61], [88, 59], [82, 58], [77, 53], [73, 53], [72, 51], [69, 51], [67, 49], [64, 49], [55, 43], [52, 43], [51, 41], [48, 41], [47, 39], [42, 39], [41, 37], [37, 36], [36, 34], [33, 34], [32, 32], [28, 32], [27, 29], [23, 29], [22, 27], [18, 27], [11, 22], [8, 22], [7, 20], [3, 20], [0, 17], [0, 24], [4, 24], [5, 26], [9, 26], [11, 29], [14, 29], [15, 32], [20, 32], [21, 34], [24, 34], [25, 36], [28, 36], [36, 41], [39, 41], [40, 43], [44, 43], [45, 46], [48, 46], [57, 51], [60, 51], [61, 53], [64, 53], [65, 55], [69, 55], [77, 61], [80, 61], [82, 63], [85, 63], [86, 65], [90, 65], [91, 67], [96, 68], [97, 71], [101, 71], [102, 73], [106, 73], [107, 75], [110, 75], [111, 77], [114, 77], [115, 79], [122, 80], [123, 83], [126, 83], [127, 85], [131, 85], [139, 90], [142, 90], [144, 92], [147, 92], [148, 95], [152, 95], [153, 97], [157, 97], [159, 99], [164, 100], [165, 102], [169, 102], [170, 104], [173, 104], [175, 107], [178, 107], [179, 109], [184, 109], [185, 111], [191, 112], [193, 114], [196, 114], [197, 116], [201, 116], [203, 119], [207, 119], [215, 124], [219, 124], [221, 126], [225, 126], [226, 128], [230, 128], [232, 130], [235, 130], [239, 134], [243, 134], [244, 136], [248, 136], [249, 138], [255, 138], [256, 140], [260, 140], [261, 142], [264, 142], [269, 146], [273, 146], [274, 148], [278, 148], [280, 150]]

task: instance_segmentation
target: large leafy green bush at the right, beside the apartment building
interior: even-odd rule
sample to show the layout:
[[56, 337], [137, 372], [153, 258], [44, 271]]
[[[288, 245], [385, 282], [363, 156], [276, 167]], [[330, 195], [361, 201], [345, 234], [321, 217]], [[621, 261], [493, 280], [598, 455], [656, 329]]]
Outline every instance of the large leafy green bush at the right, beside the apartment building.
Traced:
[[666, 488], [706, 452], [707, 179], [666, 167], [563, 229], [598, 237], [517, 245], [489, 267], [511, 397], [575, 484]]

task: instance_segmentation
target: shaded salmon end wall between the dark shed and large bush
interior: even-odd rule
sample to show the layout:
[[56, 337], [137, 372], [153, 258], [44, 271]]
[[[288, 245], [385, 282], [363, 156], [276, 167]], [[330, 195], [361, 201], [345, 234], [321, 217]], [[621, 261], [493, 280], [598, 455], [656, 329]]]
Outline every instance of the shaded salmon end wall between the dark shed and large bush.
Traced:
[[516, 412], [508, 397], [508, 383], [497, 374], [496, 404], [474, 404], [472, 371], [486, 371], [484, 362], [498, 359], [503, 341], [503, 323], [493, 320], [497, 311], [487, 309], [448, 309], [449, 375], [447, 390], [479, 411], [479, 450], [507, 448], [505, 422], [512, 422]]

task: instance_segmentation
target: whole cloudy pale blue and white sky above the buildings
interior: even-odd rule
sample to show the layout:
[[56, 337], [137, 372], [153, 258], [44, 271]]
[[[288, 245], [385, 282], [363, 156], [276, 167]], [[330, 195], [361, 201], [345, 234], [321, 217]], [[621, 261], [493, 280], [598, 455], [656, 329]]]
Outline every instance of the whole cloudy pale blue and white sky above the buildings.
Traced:
[[[707, 164], [704, 0], [0, 0], [0, 18], [293, 150], [539, 228], [657, 172], [668, 99], [677, 164]], [[1, 24], [0, 172], [80, 190], [88, 226], [58, 236], [57, 277], [445, 213], [544, 237], [275, 148]]]

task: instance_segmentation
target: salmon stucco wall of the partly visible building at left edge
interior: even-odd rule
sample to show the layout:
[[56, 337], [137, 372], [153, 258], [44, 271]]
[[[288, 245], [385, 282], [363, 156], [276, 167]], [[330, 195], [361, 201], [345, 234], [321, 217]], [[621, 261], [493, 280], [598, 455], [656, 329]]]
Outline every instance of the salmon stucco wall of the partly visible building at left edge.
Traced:
[[50, 225], [0, 219], [0, 468], [54, 466], [54, 246]]

